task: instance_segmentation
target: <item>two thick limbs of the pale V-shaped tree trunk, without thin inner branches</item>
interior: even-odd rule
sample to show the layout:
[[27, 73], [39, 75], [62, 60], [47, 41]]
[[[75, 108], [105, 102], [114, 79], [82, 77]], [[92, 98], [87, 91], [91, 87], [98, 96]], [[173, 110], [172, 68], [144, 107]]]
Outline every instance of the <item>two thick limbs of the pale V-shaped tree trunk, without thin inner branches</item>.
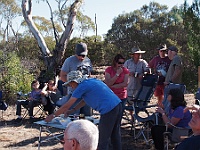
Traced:
[[23, 17], [31, 33], [33, 34], [33, 36], [38, 42], [38, 46], [43, 55], [44, 63], [47, 67], [46, 71], [48, 73], [54, 73], [56, 68], [59, 65], [61, 65], [60, 64], [61, 60], [63, 59], [67, 44], [70, 40], [70, 36], [74, 29], [77, 10], [81, 6], [81, 4], [82, 4], [82, 0], [75, 0], [75, 2], [71, 5], [65, 31], [63, 32], [61, 38], [59, 39], [58, 44], [56, 44], [53, 53], [51, 53], [49, 49], [47, 48], [44, 38], [42, 37], [42, 35], [38, 31], [37, 27], [35, 26], [32, 20], [32, 14], [31, 14], [32, 0], [22, 0], [21, 6], [22, 6]]

